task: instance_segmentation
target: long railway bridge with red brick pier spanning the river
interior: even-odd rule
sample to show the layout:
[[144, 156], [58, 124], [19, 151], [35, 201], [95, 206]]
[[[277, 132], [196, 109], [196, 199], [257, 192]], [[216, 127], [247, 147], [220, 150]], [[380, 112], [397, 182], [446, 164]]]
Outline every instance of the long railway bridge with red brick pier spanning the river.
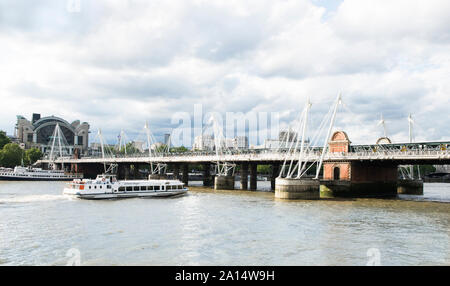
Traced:
[[[189, 165], [202, 165], [203, 184], [217, 189], [234, 189], [235, 173], [230, 169], [223, 178], [215, 176], [213, 166], [228, 162], [237, 166], [242, 190], [257, 189], [257, 166], [271, 165], [271, 186], [276, 197], [284, 199], [317, 199], [334, 197], [394, 196], [397, 193], [421, 194], [423, 183], [418, 177], [404, 176], [402, 169], [408, 166], [450, 164], [450, 142], [415, 142], [373, 145], [352, 145], [347, 134], [336, 131], [328, 141], [328, 148], [313, 147], [299, 156], [292, 150], [247, 150], [214, 152], [167, 153], [159, 156], [130, 154], [122, 156], [59, 157], [52, 162], [59, 168], [94, 177], [104, 171], [105, 164], [117, 167], [119, 179], [137, 176], [143, 165], [164, 164], [173, 176], [188, 183]], [[322, 159], [322, 160], [320, 160]], [[317, 162], [321, 164], [317, 164]], [[286, 175], [288, 169], [298, 167], [305, 176]], [[41, 160], [49, 164], [50, 160]], [[410, 169], [413, 170], [412, 168]], [[320, 173], [315, 180], [313, 172]], [[292, 174], [292, 172], [290, 172]], [[284, 174], [284, 175], [283, 175]], [[300, 172], [299, 172], [300, 174]], [[160, 174], [163, 175], [163, 174]], [[218, 180], [219, 179], [219, 180]]]

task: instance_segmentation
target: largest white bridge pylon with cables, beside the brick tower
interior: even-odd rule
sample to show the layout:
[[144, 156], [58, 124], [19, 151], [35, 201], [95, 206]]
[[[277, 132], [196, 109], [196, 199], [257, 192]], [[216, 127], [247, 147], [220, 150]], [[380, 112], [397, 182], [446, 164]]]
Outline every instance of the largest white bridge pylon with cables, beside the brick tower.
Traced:
[[[286, 146], [287, 152], [285, 153], [285, 159], [283, 162], [283, 165], [280, 170], [280, 174], [278, 178], [287, 178], [287, 179], [301, 179], [304, 177], [307, 173], [307, 171], [316, 164], [316, 175], [314, 179], [319, 178], [320, 168], [322, 167], [323, 160], [325, 158], [325, 155], [328, 153], [328, 142], [330, 141], [331, 132], [333, 130], [333, 126], [336, 119], [336, 113], [338, 110], [339, 105], [342, 104], [342, 96], [339, 94], [334, 102], [334, 104], [331, 106], [328, 113], [324, 116], [319, 128], [316, 130], [316, 132], [313, 134], [312, 139], [309, 140], [307, 138], [308, 135], [308, 118], [309, 113], [312, 107], [311, 102], [306, 102], [305, 107], [303, 108], [302, 113], [300, 114], [300, 117], [298, 119], [298, 124], [296, 125], [296, 128], [293, 128], [293, 134], [295, 140], [292, 140], [292, 136], [289, 134], [291, 131], [291, 128], [289, 128], [289, 132], [287, 136], [285, 136], [286, 142], [281, 142], [282, 145]], [[319, 140], [321, 137], [323, 137], [323, 133], [326, 128], [326, 124], [329, 122], [328, 130], [325, 135], [323, 148], [321, 150], [320, 156], [317, 157], [314, 156], [313, 152], [313, 146], [318, 146]], [[315, 157], [315, 161], [313, 163], [309, 163], [310, 160], [308, 158]], [[292, 158], [288, 160], [288, 158]]]

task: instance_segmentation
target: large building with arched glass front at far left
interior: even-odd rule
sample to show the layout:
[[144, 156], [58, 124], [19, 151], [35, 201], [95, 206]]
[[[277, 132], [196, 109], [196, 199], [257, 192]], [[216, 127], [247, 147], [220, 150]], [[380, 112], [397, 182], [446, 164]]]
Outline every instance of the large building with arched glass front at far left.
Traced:
[[25, 145], [25, 149], [38, 148], [43, 153], [49, 153], [57, 124], [61, 128], [70, 154], [73, 154], [74, 149], [86, 154], [89, 145], [89, 124], [81, 123], [79, 120], [69, 123], [56, 116], [41, 118], [40, 114], [33, 113], [32, 120], [29, 121], [18, 115], [14, 137], [18, 143]]

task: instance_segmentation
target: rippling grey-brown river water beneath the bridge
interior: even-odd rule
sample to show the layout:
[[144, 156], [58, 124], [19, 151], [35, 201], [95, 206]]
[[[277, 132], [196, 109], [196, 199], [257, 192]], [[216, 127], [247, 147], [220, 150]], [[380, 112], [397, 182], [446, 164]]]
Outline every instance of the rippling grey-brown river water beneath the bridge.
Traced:
[[0, 265], [450, 265], [450, 184], [345, 201], [200, 186], [85, 201], [63, 186], [0, 182]]

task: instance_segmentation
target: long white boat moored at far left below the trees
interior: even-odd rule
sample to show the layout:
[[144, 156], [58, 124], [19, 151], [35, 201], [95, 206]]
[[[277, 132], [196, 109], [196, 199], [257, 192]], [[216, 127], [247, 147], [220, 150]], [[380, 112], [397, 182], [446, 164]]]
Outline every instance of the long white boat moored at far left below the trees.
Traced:
[[61, 170], [43, 170], [41, 168], [17, 166], [0, 170], [0, 180], [7, 181], [70, 181], [82, 179], [82, 174], [65, 173]]

